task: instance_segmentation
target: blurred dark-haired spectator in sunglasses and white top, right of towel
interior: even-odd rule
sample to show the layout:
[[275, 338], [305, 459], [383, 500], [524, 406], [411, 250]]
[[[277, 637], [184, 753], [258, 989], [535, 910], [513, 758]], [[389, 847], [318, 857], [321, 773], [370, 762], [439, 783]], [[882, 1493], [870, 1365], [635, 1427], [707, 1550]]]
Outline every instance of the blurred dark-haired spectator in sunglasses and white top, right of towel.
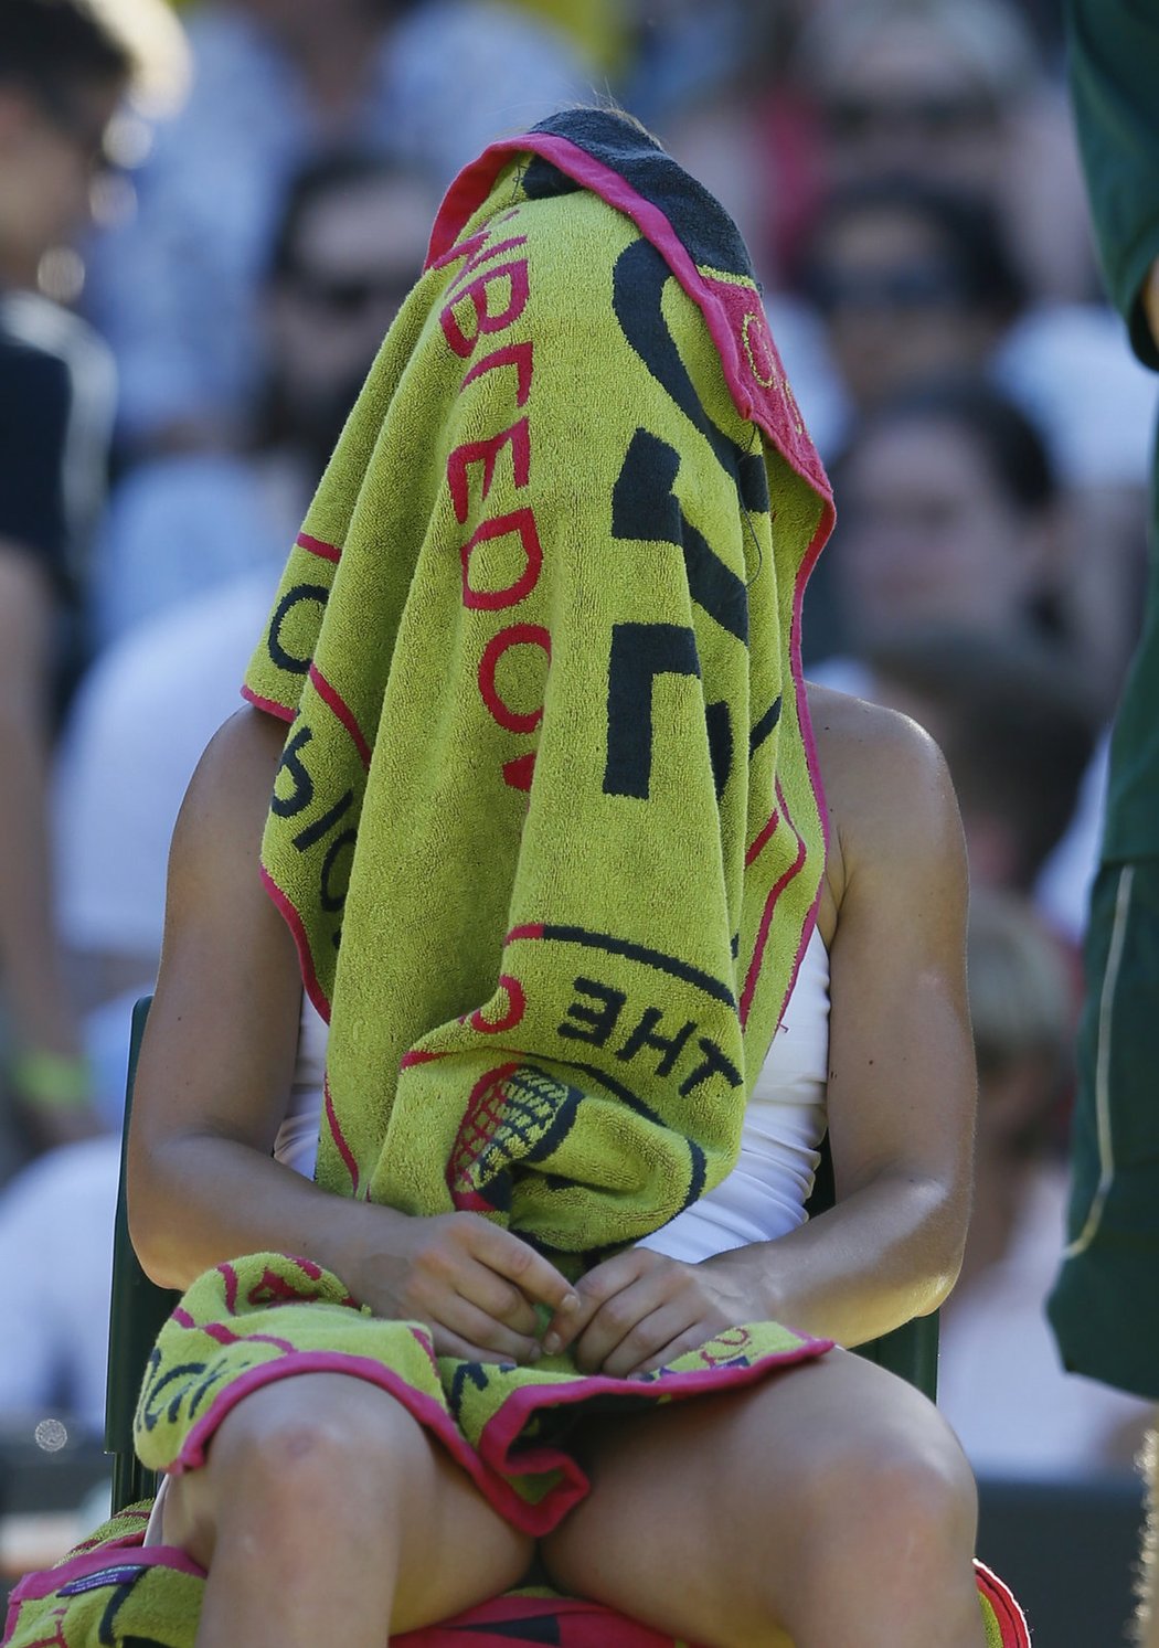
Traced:
[[1086, 595], [1106, 651], [1124, 654], [1129, 638], [1095, 583], [1116, 587], [1108, 560], [1143, 567], [1156, 386], [1110, 310], [1027, 302], [989, 203], [907, 176], [851, 183], [828, 199], [801, 247], [800, 297], [821, 325], [809, 330], [785, 293], [773, 293], [770, 320], [828, 456], [857, 414], [948, 369], [984, 372], [1034, 419], [1083, 531], [1105, 542], [1103, 555], [1086, 557], [1098, 569]]

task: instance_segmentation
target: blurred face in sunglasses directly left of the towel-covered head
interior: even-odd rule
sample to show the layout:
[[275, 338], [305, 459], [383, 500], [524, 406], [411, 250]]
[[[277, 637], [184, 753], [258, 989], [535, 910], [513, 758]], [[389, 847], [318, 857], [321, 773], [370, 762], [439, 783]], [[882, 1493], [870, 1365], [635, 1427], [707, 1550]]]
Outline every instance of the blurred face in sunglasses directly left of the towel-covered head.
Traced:
[[323, 448], [422, 272], [434, 208], [422, 180], [384, 175], [341, 183], [302, 216], [265, 315], [284, 410]]

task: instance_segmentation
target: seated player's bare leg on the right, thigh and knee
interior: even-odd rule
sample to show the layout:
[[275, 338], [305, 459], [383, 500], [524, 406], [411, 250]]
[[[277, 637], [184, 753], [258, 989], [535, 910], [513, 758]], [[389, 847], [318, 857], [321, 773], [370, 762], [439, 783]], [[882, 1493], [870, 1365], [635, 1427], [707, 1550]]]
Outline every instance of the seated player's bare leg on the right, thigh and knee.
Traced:
[[833, 1351], [603, 1421], [552, 1580], [709, 1648], [983, 1648], [974, 1483], [936, 1409]]

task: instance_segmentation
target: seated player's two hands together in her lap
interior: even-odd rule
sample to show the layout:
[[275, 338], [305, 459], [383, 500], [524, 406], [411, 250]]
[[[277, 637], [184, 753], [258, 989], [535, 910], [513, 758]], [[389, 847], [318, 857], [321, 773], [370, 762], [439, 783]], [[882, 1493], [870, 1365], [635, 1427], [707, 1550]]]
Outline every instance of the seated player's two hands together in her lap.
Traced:
[[401, 1234], [391, 1254], [379, 1249], [361, 1297], [379, 1315], [425, 1322], [440, 1356], [533, 1365], [570, 1348], [580, 1373], [631, 1378], [762, 1315], [720, 1264], [630, 1248], [572, 1284], [475, 1213], [411, 1218]]

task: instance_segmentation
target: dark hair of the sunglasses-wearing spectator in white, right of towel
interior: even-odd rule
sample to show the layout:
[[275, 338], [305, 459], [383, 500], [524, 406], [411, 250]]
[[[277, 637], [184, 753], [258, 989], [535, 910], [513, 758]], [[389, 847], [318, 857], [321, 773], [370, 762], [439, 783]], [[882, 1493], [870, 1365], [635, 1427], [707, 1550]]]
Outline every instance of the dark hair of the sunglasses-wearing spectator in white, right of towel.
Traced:
[[824, 265], [818, 244], [824, 234], [849, 218], [897, 211], [922, 219], [938, 237], [956, 297], [969, 308], [983, 308], [1009, 321], [1027, 300], [1025, 282], [1014, 262], [991, 203], [948, 183], [913, 176], [870, 178], [834, 190], [816, 219], [801, 265], [805, 297], [824, 292]]

